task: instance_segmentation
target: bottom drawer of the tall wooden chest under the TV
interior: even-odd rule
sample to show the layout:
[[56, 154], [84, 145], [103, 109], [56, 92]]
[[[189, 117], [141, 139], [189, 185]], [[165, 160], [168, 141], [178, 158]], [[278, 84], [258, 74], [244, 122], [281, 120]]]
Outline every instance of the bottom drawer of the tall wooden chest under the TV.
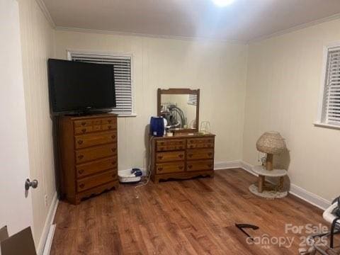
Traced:
[[77, 181], [77, 191], [86, 191], [89, 188], [94, 188], [104, 183], [117, 179], [117, 171], [107, 171], [96, 176], [86, 177]]

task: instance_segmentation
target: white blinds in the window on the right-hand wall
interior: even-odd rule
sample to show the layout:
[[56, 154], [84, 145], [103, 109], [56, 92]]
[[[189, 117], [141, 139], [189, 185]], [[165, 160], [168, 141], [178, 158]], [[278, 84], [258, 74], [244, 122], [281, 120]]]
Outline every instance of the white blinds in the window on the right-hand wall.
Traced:
[[340, 125], [340, 47], [330, 47], [327, 51], [321, 121]]

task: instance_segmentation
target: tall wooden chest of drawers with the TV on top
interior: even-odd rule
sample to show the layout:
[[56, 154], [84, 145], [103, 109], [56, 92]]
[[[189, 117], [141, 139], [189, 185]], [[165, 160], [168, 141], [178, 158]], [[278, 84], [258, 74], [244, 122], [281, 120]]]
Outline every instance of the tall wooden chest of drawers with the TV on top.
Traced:
[[62, 194], [70, 203], [118, 188], [117, 116], [61, 116]]

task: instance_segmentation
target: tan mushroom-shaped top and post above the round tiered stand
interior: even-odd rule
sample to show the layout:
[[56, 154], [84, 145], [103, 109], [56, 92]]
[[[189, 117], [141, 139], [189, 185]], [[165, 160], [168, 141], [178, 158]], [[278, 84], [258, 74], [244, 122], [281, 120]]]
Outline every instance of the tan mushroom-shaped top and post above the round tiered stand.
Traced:
[[280, 154], [285, 151], [285, 140], [279, 132], [265, 132], [256, 142], [259, 152], [267, 154], [266, 169], [273, 170], [273, 154]]

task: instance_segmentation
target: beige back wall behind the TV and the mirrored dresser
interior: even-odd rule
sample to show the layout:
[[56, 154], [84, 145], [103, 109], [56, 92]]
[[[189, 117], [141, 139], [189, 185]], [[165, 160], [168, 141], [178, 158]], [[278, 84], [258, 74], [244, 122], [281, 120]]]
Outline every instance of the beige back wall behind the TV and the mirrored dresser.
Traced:
[[216, 137], [216, 162], [242, 158], [247, 46], [227, 42], [77, 33], [57, 30], [56, 57], [66, 50], [133, 54], [137, 117], [119, 118], [119, 169], [145, 166], [145, 128], [157, 114], [157, 88], [200, 89], [200, 120]]

